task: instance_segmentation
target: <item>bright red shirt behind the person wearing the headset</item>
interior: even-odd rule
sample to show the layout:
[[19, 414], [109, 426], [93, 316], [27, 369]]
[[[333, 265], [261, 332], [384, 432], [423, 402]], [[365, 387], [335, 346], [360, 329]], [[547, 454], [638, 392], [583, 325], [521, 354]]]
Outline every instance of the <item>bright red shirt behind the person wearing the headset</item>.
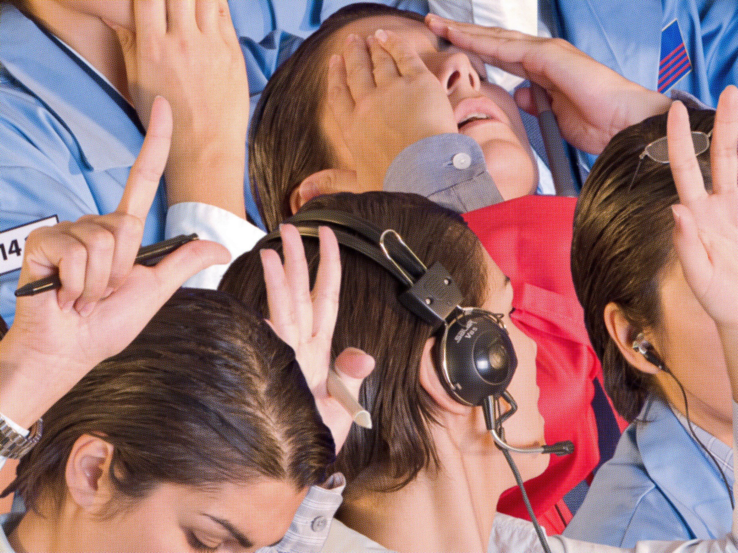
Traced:
[[[590, 476], [599, 462], [591, 402], [593, 379], [600, 377], [601, 368], [571, 282], [575, 205], [576, 198], [523, 196], [463, 215], [511, 279], [515, 324], [538, 344], [539, 409], [546, 442], [570, 439], [574, 443], [573, 453], [552, 455], [545, 472], [525, 484], [536, 515], [550, 534], [562, 532], [571, 518], [563, 496]], [[624, 421], [618, 422], [624, 428]], [[517, 488], [503, 494], [497, 510], [528, 518]]]

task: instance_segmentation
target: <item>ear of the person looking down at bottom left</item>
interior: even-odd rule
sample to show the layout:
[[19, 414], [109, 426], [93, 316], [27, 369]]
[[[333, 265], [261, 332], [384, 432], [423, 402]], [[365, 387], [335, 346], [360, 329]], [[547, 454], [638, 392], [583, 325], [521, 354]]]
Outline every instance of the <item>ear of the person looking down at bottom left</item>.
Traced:
[[77, 438], [66, 460], [66, 487], [79, 507], [99, 512], [112, 498], [108, 470], [114, 447], [103, 439], [84, 434]]

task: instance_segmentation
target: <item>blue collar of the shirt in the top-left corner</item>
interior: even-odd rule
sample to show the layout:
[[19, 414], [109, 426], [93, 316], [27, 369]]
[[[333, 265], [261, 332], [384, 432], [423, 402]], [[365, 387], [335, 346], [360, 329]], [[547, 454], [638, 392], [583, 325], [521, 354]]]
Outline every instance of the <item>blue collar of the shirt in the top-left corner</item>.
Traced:
[[143, 142], [134, 109], [89, 63], [6, 3], [0, 64], [72, 133], [92, 170], [133, 165]]

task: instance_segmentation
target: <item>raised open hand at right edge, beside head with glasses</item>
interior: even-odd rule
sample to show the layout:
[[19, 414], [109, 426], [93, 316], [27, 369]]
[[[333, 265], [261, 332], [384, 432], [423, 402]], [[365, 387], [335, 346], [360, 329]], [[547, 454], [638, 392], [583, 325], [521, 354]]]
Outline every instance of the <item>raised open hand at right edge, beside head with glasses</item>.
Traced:
[[684, 277], [718, 328], [738, 328], [738, 89], [720, 94], [710, 145], [712, 192], [694, 156], [681, 102], [669, 110], [669, 160], [680, 204], [672, 206]]

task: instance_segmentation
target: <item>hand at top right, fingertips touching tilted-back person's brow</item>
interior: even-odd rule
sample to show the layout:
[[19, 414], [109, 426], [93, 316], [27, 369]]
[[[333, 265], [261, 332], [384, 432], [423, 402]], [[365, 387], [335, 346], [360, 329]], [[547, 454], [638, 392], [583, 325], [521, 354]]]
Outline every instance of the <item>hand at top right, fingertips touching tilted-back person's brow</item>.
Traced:
[[[599, 154], [618, 131], [669, 109], [668, 97], [621, 77], [562, 39], [438, 15], [428, 15], [426, 23], [455, 46], [544, 88], [562, 135], [580, 150]], [[515, 100], [520, 108], [538, 114], [530, 88], [519, 88]]]

